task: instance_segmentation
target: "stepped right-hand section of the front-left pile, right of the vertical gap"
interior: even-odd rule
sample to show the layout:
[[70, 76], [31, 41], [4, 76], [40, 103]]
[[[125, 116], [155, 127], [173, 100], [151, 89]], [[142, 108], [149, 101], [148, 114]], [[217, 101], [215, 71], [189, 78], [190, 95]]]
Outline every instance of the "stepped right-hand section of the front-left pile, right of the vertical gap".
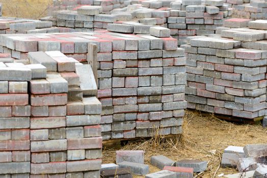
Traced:
[[[45, 55], [47, 60], [41, 61]], [[31, 80], [31, 132], [35, 135], [31, 173], [98, 177], [101, 104], [94, 96], [83, 96], [79, 87], [79, 66], [87, 65], [57, 51], [29, 56], [33, 63], [49, 62], [47, 67], [52, 71], [46, 78]]]

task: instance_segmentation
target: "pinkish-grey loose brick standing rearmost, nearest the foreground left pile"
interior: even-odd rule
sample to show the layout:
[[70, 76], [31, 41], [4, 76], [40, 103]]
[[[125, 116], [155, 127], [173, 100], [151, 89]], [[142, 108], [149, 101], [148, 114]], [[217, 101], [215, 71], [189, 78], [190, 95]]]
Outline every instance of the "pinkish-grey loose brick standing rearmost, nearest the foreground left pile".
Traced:
[[123, 161], [144, 164], [144, 151], [116, 151], [116, 164], [119, 164]]

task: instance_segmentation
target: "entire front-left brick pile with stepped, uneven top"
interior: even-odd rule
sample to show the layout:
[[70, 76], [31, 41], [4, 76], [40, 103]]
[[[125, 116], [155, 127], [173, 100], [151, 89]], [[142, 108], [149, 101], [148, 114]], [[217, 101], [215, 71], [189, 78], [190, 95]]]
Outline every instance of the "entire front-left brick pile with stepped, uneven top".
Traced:
[[79, 80], [88, 67], [60, 51], [1, 63], [0, 175], [99, 177], [101, 103], [85, 95], [95, 80]]

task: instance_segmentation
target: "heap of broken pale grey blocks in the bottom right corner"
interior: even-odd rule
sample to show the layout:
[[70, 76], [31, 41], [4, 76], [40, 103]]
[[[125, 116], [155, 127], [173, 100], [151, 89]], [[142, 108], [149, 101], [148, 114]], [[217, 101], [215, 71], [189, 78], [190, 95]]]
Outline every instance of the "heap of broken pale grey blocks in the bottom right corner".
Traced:
[[[225, 149], [222, 166], [237, 167], [240, 173], [227, 175], [237, 177], [246, 174], [246, 177], [264, 177], [267, 175], [267, 144], [247, 144], [244, 147], [229, 146]], [[229, 162], [229, 161], [232, 162]]]

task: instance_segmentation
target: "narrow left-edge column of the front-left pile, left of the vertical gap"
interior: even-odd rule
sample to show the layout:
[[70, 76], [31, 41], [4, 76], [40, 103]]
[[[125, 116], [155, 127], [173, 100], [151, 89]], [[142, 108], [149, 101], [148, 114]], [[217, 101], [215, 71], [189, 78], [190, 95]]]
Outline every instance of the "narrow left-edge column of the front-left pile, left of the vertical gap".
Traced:
[[0, 63], [0, 176], [29, 176], [31, 70]]

